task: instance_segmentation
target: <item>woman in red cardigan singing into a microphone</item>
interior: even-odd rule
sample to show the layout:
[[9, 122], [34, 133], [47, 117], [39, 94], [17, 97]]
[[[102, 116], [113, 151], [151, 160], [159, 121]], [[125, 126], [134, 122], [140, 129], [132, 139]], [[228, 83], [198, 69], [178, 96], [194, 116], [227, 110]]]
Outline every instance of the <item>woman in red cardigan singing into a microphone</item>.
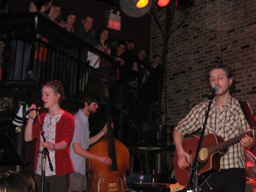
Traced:
[[[57, 81], [49, 82], [42, 86], [41, 93], [44, 108], [48, 109], [48, 113], [42, 113], [37, 117], [36, 105], [32, 104], [30, 106], [30, 118], [24, 134], [26, 142], [36, 139], [34, 165], [36, 187], [41, 188], [42, 153], [40, 151], [47, 148], [53, 171], [50, 170], [49, 161], [46, 159], [44, 191], [67, 191], [68, 174], [74, 171], [69, 147], [75, 122], [72, 114], [67, 113], [60, 107], [64, 99], [64, 90], [61, 83]], [[46, 142], [43, 141], [40, 135], [41, 131], [44, 131]]]

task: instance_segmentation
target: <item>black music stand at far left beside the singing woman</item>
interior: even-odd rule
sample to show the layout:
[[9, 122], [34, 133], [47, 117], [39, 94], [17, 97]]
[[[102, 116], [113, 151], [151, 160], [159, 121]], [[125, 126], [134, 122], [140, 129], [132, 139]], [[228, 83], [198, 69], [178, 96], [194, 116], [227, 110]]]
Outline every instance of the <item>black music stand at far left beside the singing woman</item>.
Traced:
[[0, 165], [27, 165], [19, 156], [7, 133], [0, 133]]

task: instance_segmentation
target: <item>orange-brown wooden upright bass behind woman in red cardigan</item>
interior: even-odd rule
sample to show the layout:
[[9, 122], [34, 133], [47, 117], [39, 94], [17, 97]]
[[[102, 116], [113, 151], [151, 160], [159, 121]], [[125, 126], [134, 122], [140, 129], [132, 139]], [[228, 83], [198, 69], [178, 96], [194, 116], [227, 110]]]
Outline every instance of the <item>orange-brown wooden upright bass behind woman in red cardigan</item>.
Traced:
[[107, 105], [107, 136], [95, 145], [90, 147], [91, 153], [100, 156], [109, 156], [112, 165], [106, 165], [95, 159], [87, 159], [87, 173], [89, 173], [89, 192], [123, 192], [127, 189], [125, 180], [126, 171], [129, 170], [130, 154], [126, 146], [113, 137], [111, 127], [111, 113], [109, 91], [107, 89], [107, 79], [101, 79], [106, 96]]

